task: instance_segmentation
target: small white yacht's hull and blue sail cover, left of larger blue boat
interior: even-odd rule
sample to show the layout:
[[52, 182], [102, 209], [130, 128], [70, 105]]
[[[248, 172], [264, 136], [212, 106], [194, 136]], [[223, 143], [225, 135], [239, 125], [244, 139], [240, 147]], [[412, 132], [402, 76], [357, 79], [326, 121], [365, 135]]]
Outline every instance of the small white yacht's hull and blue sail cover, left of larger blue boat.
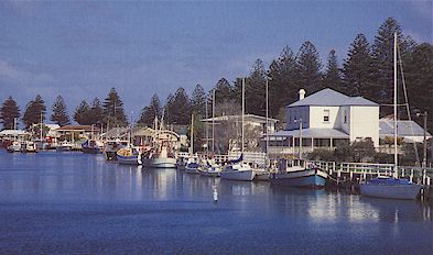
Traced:
[[251, 166], [243, 163], [243, 154], [238, 159], [227, 162], [221, 170], [221, 179], [251, 181], [255, 176], [256, 171]]

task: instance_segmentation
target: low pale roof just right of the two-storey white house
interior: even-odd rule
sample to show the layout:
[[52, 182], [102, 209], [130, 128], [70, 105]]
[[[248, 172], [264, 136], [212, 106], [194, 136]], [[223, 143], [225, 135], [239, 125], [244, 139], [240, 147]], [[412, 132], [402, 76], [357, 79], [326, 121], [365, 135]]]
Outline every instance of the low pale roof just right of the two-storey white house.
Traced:
[[[389, 118], [382, 118], [379, 120], [379, 135], [389, 136], [394, 134], [394, 122]], [[416, 122], [409, 120], [397, 121], [397, 134], [401, 136], [424, 136], [424, 129], [422, 129]], [[427, 136], [431, 134], [427, 132]]]

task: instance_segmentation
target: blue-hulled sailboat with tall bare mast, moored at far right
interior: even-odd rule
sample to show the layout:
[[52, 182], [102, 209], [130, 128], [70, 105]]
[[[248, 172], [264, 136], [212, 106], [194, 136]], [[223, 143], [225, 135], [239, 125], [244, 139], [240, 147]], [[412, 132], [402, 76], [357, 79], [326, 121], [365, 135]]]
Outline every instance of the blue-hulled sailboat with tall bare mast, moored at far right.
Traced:
[[390, 198], [390, 199], [416, 199], [421, 190], [421, 185], [412, 184], [408, 179], [400, 179], [398, 176], [398, 154], [397, 154], [397, 33], [394, 33], [394, 93], [393, 93], [393, 130], [394, 130], [394, 166], [393, 177], [374, 178], [369, 182], [360, 185], [362, 196]]

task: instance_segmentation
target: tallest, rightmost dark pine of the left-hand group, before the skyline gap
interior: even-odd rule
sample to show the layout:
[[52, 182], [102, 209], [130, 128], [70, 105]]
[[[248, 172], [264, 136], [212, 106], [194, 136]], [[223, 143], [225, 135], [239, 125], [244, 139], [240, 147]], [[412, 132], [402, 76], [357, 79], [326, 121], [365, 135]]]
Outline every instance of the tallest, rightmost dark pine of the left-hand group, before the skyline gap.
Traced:
[[104, 115], [106, 117], [106, 123], [109, 122], [111, 126], [128, 125], [128, 120], [123, 110], [123, 102], [115, 88], [110, 89], [107, 98], [104, 101]]

